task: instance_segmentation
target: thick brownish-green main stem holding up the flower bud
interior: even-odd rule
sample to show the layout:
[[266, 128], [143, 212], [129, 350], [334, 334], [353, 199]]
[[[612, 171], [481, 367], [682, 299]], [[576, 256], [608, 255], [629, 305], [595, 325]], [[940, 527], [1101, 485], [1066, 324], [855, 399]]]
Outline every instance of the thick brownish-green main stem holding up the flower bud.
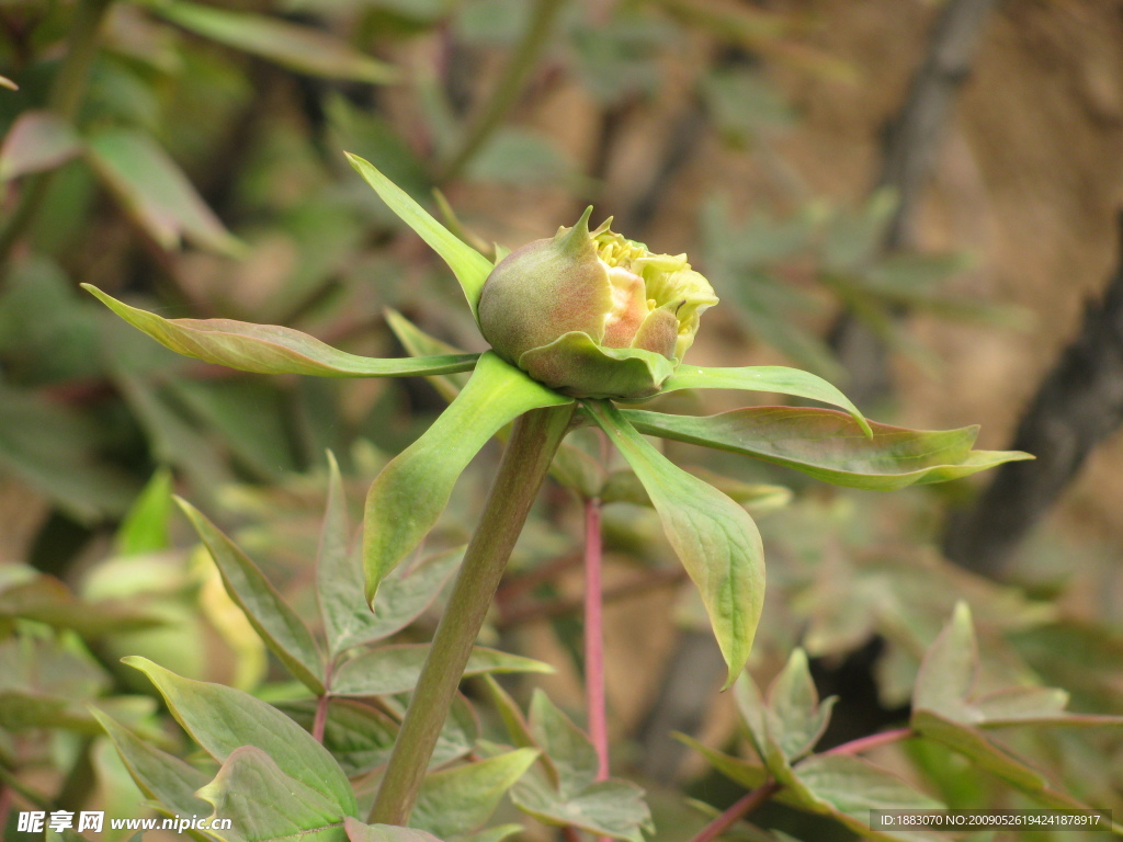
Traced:
[[574, 405], [535, 410], [514, 424], [394, 741], [371, 822], [404, 825], [410, 817], [472, 647], [554, 451], [569, 427]]

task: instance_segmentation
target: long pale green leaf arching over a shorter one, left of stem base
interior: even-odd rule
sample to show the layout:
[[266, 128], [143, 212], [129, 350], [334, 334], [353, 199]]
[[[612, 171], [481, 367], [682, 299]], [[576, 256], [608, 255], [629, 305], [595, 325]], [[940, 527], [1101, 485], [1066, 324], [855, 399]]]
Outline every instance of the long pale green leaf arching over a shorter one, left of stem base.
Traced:
[[220, 684], [193, 681], [129, 656], [124, 663], [144, 672], [167, 702], [184, 730], [209, 754], [225, 762], [243, 745], [267, 753], [281, 771], [354, 814], [355, 795], [347, 776], [320, 743], [275, 707]]

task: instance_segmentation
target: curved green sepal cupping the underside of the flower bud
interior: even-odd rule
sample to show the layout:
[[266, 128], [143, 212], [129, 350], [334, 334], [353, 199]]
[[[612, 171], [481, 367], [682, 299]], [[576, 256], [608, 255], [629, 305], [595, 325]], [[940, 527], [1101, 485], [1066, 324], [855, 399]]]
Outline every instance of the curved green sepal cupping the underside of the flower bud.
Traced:
[[575, 397], [642, 401], [658, 394], [674, 363], [641, 348], [603, 348], [588, 333], [572, 331], [528, 350], [519, 367]]

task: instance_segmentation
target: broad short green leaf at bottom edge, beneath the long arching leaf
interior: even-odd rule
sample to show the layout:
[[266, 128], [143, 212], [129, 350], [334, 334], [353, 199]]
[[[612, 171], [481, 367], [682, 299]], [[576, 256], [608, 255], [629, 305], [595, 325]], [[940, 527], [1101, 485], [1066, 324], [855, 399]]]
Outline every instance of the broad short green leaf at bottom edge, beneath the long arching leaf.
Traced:
[[325, 794], [285, 774], [254, 745], [230, 752], [218, 776], [199, 790], [229, 818], [229, 831], [211, 831], [225, 842], [344, 842], [345, 813]]

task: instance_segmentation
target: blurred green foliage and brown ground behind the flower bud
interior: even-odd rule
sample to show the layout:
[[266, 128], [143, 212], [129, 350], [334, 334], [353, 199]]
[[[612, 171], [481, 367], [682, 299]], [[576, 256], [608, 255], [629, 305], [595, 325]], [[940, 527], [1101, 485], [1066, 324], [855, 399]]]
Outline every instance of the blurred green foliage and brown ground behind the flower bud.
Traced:
[[[419, 381], [186, 361], [79, 283], [168, 318], [286, 324], [371, 356], [402, 353], [393, 308], [480, 350], [448, 273], [344, 149], [485, 251], [547, 236], [588, 203], [657, 251], [687, 251], [722, 298], [694, 364], [805, 367], [857, 390], [879, 421], [980, 422], [980, 443], [1008, 447], [1117, 259], [1123, 7], [984, 8], [919, 182], [886, 175], [907, 145], [909, 92], [934, 72], [939, 21], [967, 6], [0, 1], [0, 82], [12, 83], [0, 88], [2, 805], [135, 804], [83, 703], [174, 738], [122, 655], [283, 695], [185, 521], [152, 509], [168, 488], [312, 616], [325, 449], [357, 502], [442, 406]], [[855, 324], [874, 357], [840, 340]], [[871, 366], [880, 388], [864, 385]], [[702, 409], [697, 395], [660, 400]], [[840, 696], [830, 744], [905, 720], [921, 655], [959, 600], [987, 680], [1061, 686], [1074, 710], [1123, 714], [1123, 449], [1103, 439], [998, 575], [940, 551], [949, 512], [986, 476], [880, 495], [667, 447], [757, 488], [745, 500], [766, 533], [769, 592], [754, 672], [766, 685], [802, 646], [824, 695]], [[462, 481], [437, 546], [471, 533], [496, 452]], [[605, 509], [614, 758], [720, 809], [738, 791], [669, 738], [736, 742], [720, 659], [654, 515], [621, 501]], [[579, 514], [548, 488], [489, 631], [559, 667], [536, 684], [572, 711]], [[1123, 808], [1112, 732], [1023, 742], [1077, 795]], [[965, 806], [1011, 803], [951, 754], [887, 762]], [[651, 804], [660, 839], [704, 817], [677, 795]]]

